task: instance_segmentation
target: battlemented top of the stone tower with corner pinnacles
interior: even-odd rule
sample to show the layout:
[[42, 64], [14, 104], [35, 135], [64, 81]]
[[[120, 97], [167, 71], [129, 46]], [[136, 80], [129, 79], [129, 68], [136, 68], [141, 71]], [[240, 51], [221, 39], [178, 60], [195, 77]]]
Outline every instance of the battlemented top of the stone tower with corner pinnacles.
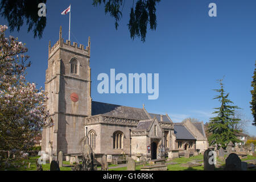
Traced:
[[67, 49], [68, 51], [80, 53], [82, 55], [90, 57], [90, 37], [88, 38], [88, 46], [86, 46], [86, 48], [84, 48], [84, 45], [82, 44], [80, 44], [78, 47], [76, 42], [73, 42], [73, 45], [71, 45], [71, 41], [69, 40], [66, 40], [66, 42], [64, 42], [64, 39], [62, 38], [62, 28], [60, 26], [59, 40], [57, 40], [57, 42], [52, 47], [51, 41], [49, 41], [48, 57], [51, 57], [59, 48]]

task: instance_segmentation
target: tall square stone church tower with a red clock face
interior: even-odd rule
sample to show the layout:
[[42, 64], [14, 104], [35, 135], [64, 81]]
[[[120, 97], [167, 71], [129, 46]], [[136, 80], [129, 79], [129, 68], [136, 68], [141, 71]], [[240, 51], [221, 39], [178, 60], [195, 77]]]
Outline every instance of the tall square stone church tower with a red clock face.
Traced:
[[84, 121], [92, 113], [90, 94], [90, 38], [84, 48], [64, 42], [60, 27], [59, 40], [49, 42], [45, 89], [48, 92], [48, 122], [43, 129], [42, 151], [47, 154], [79, 154], [85, 136]]

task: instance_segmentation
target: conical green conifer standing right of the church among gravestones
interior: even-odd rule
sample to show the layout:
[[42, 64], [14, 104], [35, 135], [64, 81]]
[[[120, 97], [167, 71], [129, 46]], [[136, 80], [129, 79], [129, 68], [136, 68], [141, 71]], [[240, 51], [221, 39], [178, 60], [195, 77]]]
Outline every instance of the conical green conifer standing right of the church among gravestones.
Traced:
[[221, 146], [225, 148], [230, 141], [233, 143], [241, 142], [235, 135], [235, 133], [238, 133], [238, 130], [233, 127], [240, 121], [239, 118], [234, 117], [234, 111], [235, 109], [240, 108], [238, 106], [230, 105], [233, 104], [233, 102], [228, 99], [229, 93], [225, 94], [222, 81], [223, 79], [219, 80], [221, 88], [214, 89], [220, 94], [213, 99], [218, 99], [218, 101], [221, 102], [221, 106], [214, 108], [216, 111], [214, 111], [213, 114], [217, 114], [217, 116], [210, 118], [208, 133], [211, 133], [211, 135], [209, 136], [208, 141], [210, 145], [217, 144], [218, 147]]

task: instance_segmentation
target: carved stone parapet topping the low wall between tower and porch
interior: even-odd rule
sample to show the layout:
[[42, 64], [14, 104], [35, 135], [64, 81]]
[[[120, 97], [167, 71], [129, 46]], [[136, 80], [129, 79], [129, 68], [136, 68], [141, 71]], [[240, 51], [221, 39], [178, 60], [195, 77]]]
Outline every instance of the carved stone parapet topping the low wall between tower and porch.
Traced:
[[121, 117], [109, 117], [108, 115], [94, 115], [92, 117], [85, 118], [85, 125], [95, 125], [98, 123], [137, 126], [139, 120]]

